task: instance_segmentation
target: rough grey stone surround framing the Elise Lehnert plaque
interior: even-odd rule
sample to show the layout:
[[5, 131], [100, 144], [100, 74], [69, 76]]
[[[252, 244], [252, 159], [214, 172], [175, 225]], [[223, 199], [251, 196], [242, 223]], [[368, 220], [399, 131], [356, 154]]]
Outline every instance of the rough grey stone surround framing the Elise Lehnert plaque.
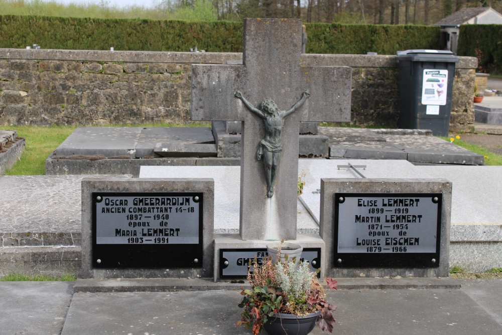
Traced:
[[[327, 277], [448, 277], [452, 183], [446, 179], [348, 179], [321, 178], [319, 235]], [[440, 259], [437, 268], [333, 268], [334, 193], [443, 193]]]

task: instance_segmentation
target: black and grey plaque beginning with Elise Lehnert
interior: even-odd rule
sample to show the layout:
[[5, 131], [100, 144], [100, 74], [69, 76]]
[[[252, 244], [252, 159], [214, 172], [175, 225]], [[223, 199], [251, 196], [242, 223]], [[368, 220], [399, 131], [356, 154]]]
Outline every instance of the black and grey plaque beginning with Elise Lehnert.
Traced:
[[339, 268], [439, 266], [441, 193], [335, 193]]

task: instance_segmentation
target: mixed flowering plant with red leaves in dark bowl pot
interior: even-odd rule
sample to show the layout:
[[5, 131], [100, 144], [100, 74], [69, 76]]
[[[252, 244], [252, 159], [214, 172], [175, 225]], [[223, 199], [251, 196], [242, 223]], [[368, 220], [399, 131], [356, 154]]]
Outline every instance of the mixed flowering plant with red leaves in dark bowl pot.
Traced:
[[[279, 250], [280, 253], [280, 250]], [[310, 271], [307, 262], [300, 262], [294, 270], [295, 259], [288, 260], [287, 255], [281, 262], [272, 261], [269, 256], [260, 265], [249, 267], [247, 280], [250, 289], [242, 289], [241, 319], [243, 324], [252, 328], [256, 335], [267, 330], [270, 334], [308, 334], [315, 325], [331, 332], [335, 319], [336, 306], [326, 301], [323, 286], [317, 279], [317, 273]], [[330, 288], [337, 288], [336, 280], [326, 278]]]

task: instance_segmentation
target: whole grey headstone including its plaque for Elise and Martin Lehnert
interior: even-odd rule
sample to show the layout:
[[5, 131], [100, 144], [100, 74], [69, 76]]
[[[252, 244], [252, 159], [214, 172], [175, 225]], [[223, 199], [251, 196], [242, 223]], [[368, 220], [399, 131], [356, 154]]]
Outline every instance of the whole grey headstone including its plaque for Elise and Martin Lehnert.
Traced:
[[[319, 235], [326, 243], [324, 263], [326, 276], [447, 277], [450, 252], [451, 190], [452, 183], [446, 179], [322, 178]], [[372, 199], [371, 196], [375, 194], [384, 195], [375, 198], [376, 200], [368, 200]], [[396, 205], [393, 206], [386, 206], [384, 203], [387, 198], [414, 199], [429, 194], [440, 194], [437, 197], [441, 201], [434, 205], [431, 201], [426, 202], [422, 198], [420, 207], [410, 205], [406, 199], [404, 202], [395, 202]], [[349, 197], [355, 197], [356, 200], [347, 210], [348, 202], [344, 207], [340, 203], [347, 201]], [[427, 199], [434, 202], [434, 196]], [[378, 203], [371, 201], [378, 201]], [[438, 201], [437, 198], [436, 201]], [[418, 212], [412, 211], [417, 207]], [[427, 217], [426, 214], [434, 209], [437, 213], [432, 215], [433, 217]], [[343, 210], [345, 213], [355, 212], [356, 215], [343, 216]], [[373, 214], [357, 215], [368, 211], [371, 213], [371, 210]], [[398, 212], [407, 215], [395, 215]], [[422, 215], [421, 221], [418, 217]], [[406, 237], [405, 234], [407, 234]], [[345, 243], [344, 239], [348, 243]], [[431, 239], [432, 242], [427, 242], [427, 239]], [[340, 246], [340, 241], [343, 245], [347, 244], [347, 247]], [[432, 248], [439, 254], [436, 254], [436, 258], [427, 259], [427, 262], [417, 261], [416, 259], [420, 258], [421, 254], [429, 253], [425, 249], [419, 251], [422, 250], [419, 246], [422, 248], [427, 243], [433, 245], [428, 249]], [[379, 264], [378, 262], [383, 257], [388, 257], [388, 266], [372, 266], [372, 264]], [[365, 258], [374, 259], [374, 263], [368, 262]], [[347, 266], [342, 265], [349, 259], [352, 260]], [[397, 264], [399, 265], [396, 266]]]

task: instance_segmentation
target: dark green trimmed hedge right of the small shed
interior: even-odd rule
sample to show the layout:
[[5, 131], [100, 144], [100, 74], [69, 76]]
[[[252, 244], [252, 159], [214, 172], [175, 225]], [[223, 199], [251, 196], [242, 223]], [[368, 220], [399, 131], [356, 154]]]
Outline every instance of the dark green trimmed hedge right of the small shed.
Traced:
[[462, 25], [458, 35], [459, 56], [476, 57], [482, 52], [478, 65], [489, 73], [502, 74], [502, 25]]

